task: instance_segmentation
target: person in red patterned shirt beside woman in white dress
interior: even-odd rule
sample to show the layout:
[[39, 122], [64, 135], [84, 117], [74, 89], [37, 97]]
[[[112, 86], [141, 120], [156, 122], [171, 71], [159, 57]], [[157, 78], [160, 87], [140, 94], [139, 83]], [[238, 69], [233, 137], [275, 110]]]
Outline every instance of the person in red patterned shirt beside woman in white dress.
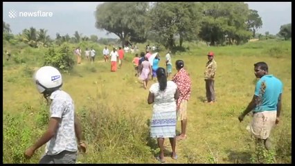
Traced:
[[179, 89], [179, 99], [177, 100], [177, 114], [179, 120], [181, 120], [181, 133], [177, 136], [177, 140], [186, 139], [186, 124], [188, 122], [187, 116], [187, 107], [188, 100], [190, 99], [190, 88], [191, 81], [190, 76], [184, 70], [184, 61], [177, 60], [175, 62], [175, 67], [177, 69], [177, 73], [173, 75], [172, 81], [177, 84], [177, 88]]

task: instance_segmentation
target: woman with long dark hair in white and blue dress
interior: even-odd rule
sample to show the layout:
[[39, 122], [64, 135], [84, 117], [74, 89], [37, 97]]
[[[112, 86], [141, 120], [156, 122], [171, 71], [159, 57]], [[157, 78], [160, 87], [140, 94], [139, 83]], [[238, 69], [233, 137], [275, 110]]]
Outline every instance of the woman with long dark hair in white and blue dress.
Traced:
[[152, 110], [152, 120], [150, 123], [150, 134], [152, 138], [157, 138], [160, 154], [157, 160], [165, 163], [164, 160], [164, 140], [169, 138], [172, 147], [172, 159], [177, 159], [176, 154], [176, 103], [179, 98], [179, 90], [175, 82], [167, 81], [164, 68], [157, 69], [158, 82], [150, 86], [147, 103], [154, 103]]

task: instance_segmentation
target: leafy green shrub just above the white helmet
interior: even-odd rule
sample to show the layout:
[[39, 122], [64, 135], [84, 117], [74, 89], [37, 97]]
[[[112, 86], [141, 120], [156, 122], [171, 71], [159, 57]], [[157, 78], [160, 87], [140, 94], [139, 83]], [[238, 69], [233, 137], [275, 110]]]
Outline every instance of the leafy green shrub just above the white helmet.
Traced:
[[60, 71], [69, 72], [73, 68], [73, 52], [69, 49], [67, 44], [62, 45], [61, 48], [48, 48], [44, 57], [44, 65], [54, 66]]

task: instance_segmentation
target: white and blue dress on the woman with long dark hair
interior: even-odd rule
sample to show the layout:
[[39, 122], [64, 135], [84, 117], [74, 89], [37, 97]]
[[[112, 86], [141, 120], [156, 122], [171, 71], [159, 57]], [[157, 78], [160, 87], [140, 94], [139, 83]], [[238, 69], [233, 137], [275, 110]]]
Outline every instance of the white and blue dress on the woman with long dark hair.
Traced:
[[176, 100], [177, 91], [175, 82], [168, 81], [165, 91], [160, 91], [159, 83], [150, 87], [154, 93], [154, 106], [152, 120], [150, 123], [150, 134], [152, 138], [174, 138], [176, 136]]

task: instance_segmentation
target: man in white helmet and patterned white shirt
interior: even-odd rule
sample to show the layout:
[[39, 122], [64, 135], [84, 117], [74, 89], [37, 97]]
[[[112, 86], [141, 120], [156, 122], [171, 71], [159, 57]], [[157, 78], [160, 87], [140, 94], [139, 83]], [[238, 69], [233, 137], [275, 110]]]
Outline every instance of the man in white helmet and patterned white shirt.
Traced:
[[30, 158], [47, 142], [46, 154], [39, 163], [75, 163], [78, 149], [85, 152], [86, 145], [81, 139], [82, 129], [75, 115], [73, 100], [68, 93], [60, 90], [62, 75], [52, 66], [43, 66], [33, 78], [39, 93], [47, 102], [50, 99], [50, 120], [44, 135], [26, 149], [24, 156]]

